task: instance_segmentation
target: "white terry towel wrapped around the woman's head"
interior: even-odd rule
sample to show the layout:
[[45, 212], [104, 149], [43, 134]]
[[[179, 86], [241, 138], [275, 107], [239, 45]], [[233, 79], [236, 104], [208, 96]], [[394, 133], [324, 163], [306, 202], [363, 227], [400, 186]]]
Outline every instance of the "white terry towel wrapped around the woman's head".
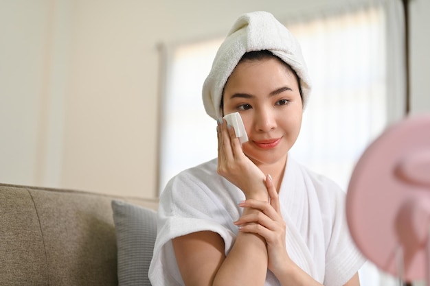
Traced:
[[286, 62], [300, 79], [303, 104], [310, 93], [308, 69], [297, 39], [269, 12], [243, 14], [230, 29], [216, 53], [212, 69], [203, 84], [203, 104], [210, 117], [223, 117], [221, 97], [227, 79], [240, 58], [249, 51], [271, 51]]

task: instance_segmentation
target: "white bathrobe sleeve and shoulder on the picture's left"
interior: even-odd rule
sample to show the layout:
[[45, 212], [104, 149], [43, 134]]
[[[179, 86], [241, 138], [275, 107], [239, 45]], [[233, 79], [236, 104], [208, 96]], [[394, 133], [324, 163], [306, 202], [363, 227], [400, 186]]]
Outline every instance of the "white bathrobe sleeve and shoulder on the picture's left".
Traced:
[[210, 230], [223, 238], [225, 254], [236, 238], [237, 227], [233, 222], [240, 213], [232, 205], [236, 200], [227, 198], [231, 196], [231, 190], [229, 193], [226, 189], [228, 184], [217, 176], [207, 176], [205, 180], [205, 174], [195, 171], [172, 178], [161, 194], [157, 240], [149, 270], [152, 286], [183, 285], [172, 248], [174, 237]]

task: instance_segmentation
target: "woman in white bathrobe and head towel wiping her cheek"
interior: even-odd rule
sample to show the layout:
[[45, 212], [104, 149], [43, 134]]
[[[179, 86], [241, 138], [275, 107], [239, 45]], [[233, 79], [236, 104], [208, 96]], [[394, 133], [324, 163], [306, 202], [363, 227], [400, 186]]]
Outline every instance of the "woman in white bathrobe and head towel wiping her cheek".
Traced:
[[[345, 194], [288, 156], [309, 90], [290, 32], [267, 12], [242, 15], [203, 86], [218, 158], [163, 191], [152, 285], [359, 285]], [[231, 112], [247, 143], [220, 119]]]

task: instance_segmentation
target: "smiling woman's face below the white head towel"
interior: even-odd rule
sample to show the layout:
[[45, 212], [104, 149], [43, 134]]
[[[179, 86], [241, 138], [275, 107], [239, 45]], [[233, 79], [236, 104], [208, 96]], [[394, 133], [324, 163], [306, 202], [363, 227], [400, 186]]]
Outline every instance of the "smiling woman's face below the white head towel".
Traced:
[[249, 137], [243, 152], [258, 166], [284, 164], [302, 125], [302, 99], [293, 72], [276, 58], [240, 62], [223, 94], [224, 115], [236, 111]]

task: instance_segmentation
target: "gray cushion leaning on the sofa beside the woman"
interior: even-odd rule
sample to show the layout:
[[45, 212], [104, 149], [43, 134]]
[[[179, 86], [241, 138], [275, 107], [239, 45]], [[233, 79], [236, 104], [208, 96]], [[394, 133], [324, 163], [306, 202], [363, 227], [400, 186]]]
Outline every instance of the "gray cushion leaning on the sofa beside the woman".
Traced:
[[155, 237], [157, 213], [149, 208], [112, 201], [117, 234], [118, 286], [150, 286], [148, 278]]

